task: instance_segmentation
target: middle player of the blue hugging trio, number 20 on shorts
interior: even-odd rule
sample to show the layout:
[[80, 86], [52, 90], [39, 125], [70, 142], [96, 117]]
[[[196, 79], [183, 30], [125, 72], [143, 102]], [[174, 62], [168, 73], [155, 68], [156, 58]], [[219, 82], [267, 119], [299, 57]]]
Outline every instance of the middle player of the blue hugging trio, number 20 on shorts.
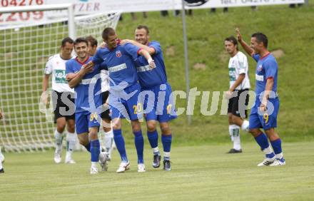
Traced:
[[92, 62], [88, 63], [86, 68], [94, 64], [104, 63], [106, 69], [109, 71], [109, 105], [113, 122], [113, 138], [121, 156], [121, 164], [116, 172], [125, 172], [130, 166], [121, 131], [121, 118], [131, 120], [135, 137], [134, 143], [138, 155], [138, 172], [145, 172], [143, 161], [144, 140], [141, 124], [138, 121], [143, 114], [142, 107], [138, 102], [138, 94], [141, 91], [141, 87], [138, 84], [134, 61], [141, 55], [145, 56], [146, 60], [148, 60], [150, 68], [154, 68], [155, 63], [148, 51], [133, 46], [131, 43], [121, 46], [114, 29], [104, 29], [102, 37], [106, 43], [106, 47], [98, 49]]

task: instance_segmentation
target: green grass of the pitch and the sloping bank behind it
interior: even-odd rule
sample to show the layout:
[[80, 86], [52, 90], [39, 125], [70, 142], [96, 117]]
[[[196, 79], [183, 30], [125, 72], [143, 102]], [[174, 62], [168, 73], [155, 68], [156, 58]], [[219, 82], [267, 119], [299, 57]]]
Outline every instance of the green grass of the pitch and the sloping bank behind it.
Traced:
[[[277, 130], [283, 140], [287, 165], [256, 167], [263, 160], [263, 153], [245, 133], [241, 133], [244, 153], [227, 155], [231, 142], [227, 115], [220, 115], [221, 101], [215, 115], [204, 116], [200, 112], [199, 96], [191, 125], [187, 125], [186, 115], [171, 123], [171, 172], [151, 168], [147, 139], [144, 155], [147, 172], [136, 172], [131, 126], [124, 122], [123, 135], [131, 171], [115, 172], [119, 163], [117, 152], [108, 172], [93, 176], [88, 172], [89, 155], [84, 152], [75, 153], [76, 165], [54, 164], [52, 150], [4, 153], [6, 172], [0, 175], [0, 200], [313, 200], [312, 2], [298, 9], [288, 9], [288, 5], [259, 6], [258, 11], [231, 8], [228, 14], [223, 14], [221, 9], [216, 14], [197, 10], [187, 17], [191, 88], [197, 87], [198, 91], [222, 94], [228, 90], [228, 55], [223, 51], [223, 40], [235, 34], [237, 26], [245, 41], [249, 41], [251, 33], [262, 31], [269, 38], [270, 51], [283, 51], [284, 55], [278, 58], [280, 113]], [[185, 91], [181, 17], [171, 14], [161, 18], [159, 12], [149, 12], [148, 19], [137, 14], [137, 21], [131, 21], [130, 14], [123, 14], [117, 32], [120, 38], [133, 38], [138, 24], [148, 25], [151, 38], [160, 41], [163, 47], [173, 91]], [[172, 53], [168, 53], [170, 50]], [[206, 68], [193, 68], [196, 63], [203, 63]], [[252, 59], [249, 66], [250, 83], [254, 88]], [[185, 105], [186, 101], [178, 98], [177, 107]], [[34, 126], [39, 124], [34, 123]], [[142, 126], [146, 138], [146, 128]]]

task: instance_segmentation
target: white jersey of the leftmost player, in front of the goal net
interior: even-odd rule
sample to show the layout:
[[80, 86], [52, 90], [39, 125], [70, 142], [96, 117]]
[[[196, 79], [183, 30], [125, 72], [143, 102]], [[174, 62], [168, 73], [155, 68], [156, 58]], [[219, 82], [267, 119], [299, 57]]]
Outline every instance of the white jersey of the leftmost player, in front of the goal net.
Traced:
[[52, 74], [51, 78], [51, 89], [54, 91], [61, 92], [72, 92], [74, 89], [69, 87], [68, 81], [66, 81], [66, 61], [61, 58], [60, 54], [57, 53], [51, 56], [46, 63], [44, 73], [46, 75]]

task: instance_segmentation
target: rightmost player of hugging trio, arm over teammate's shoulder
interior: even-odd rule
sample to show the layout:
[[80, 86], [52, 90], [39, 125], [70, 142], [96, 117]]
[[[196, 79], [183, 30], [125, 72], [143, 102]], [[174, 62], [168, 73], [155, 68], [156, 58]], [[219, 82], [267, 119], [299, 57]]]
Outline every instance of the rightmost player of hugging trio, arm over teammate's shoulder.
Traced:
[[[171, 96], [171, 86], [167, 81], [166, 67], [163, 62], [163, 52], [158, 41], [149, 41], [149, 29], [140, 25], [136, 28], [135, 39], [123, 42], [133, 43], [147, 50], [156, 63], [156, 68], [148, 68], [148, 62], [143, 56], [137, 59], [138, 81], [143, 94], [143, 108], [146, 108], [146, 125], [148, 141], [153, 150], [153, 168], [159, 168], [161, 154], [158, 149], [157, 122], [161, 128], [161, 143], [163, 144], [163, 170], [171, 170], [170, 150], [172, 133], [169, 121], [176, 118], [175, 105]], [[151, 94], [151, 95], [150, 95]]]

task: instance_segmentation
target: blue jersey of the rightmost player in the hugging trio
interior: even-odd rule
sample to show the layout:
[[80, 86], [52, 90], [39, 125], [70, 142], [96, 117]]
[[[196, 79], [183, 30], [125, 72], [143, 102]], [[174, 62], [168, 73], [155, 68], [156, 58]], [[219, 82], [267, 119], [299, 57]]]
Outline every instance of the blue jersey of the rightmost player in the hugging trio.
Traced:
[[143, 56], [138, 57], [136, 61], [138, 81], [142, 88], [153, 88], [167, 83], [165, 63], [163, 63], [163, 52], [161, 44], [157, 41], [151, 41], [148, 46], [155, 49], [152, 58], [156, 63], [156, 68], [151, 69]]

